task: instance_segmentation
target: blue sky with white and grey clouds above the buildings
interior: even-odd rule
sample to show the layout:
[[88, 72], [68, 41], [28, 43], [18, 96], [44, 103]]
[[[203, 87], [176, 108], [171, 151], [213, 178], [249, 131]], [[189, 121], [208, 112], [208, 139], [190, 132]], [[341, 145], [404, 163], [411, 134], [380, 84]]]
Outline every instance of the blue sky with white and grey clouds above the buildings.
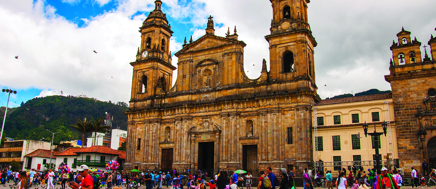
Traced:
[[[174, 31], [172, 52], [181, 49], [184, 37], [201, 37], [212, 15], [217, 35], [237, 27], [239, 40], [247, 44], [244, 61], [250, 78], [260, 75], [263, 58], [269, 62], [264, 39], [272, 17], [269, 0], [162, 1]], [[129, 62], [135, 61], [138, 27], [154, 9], [153, 2], [0, 0], [0, 88], [18, 91], [10, 105], [61, 91], [128, 102]], [[312, 0], [308, 21], [318, 42], [315, 71], [321, 98], [390, 90], [384, 75], [389, 74], [392, 40], [404, 27], [427, 44], [430, 34], [436, 35], [435, 7], [435, 0]], [[0, 101], [6, 105], [6, 93]]]

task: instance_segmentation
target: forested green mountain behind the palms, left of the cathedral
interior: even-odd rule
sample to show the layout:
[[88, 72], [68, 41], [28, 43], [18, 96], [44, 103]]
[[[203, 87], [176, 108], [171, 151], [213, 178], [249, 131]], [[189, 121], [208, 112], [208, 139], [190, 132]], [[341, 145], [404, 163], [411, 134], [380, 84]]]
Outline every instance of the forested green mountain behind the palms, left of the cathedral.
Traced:
[[[34, 98], [17, 108], [8, 108], [3, 136], [17, 139], [50, 138], [54, 135], [54, 142], [82, 139], [70, 125], [76, 124], [76, 119], [105, 118], [106, 113], [113, 116], [112, 128], [127, 130], [127, 115], [123, 111], [128, 109], [125, 102], [103, 102], [91, 98], [74, 96], [47, 96]], [[3, 123], [4, 107], [1, 122]], [[88, 134], [90, 135], [90, 133]]]

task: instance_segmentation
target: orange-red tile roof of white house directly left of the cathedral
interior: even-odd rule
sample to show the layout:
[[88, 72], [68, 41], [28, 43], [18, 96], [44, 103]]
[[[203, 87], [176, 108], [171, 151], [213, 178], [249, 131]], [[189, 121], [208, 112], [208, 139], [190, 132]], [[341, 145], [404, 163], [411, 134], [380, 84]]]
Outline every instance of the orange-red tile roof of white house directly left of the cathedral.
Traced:
[[98, 154], [109, 154], [118, 155], [120, 159], [126, 159], [126, 152], [120, 150], [114, 150], [107, 146], [91, 146], [88, 148], [67, 148], [66, 150], [57, 153], [57, 156], [67, 156], [67, 155], [78, 155], [83, 153], [98, 153]]

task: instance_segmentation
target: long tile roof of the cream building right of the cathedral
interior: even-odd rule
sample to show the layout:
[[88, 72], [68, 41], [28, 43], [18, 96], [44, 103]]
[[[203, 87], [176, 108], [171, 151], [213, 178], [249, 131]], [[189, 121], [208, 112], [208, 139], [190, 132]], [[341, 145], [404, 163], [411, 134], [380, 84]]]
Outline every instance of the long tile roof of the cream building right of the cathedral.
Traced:
[[358, 96], [358, 97], [326, 99], [326, 100], [322, 100], [322, 101], [317, 102], [313, 106], [334, 105], [334, 104], [361, 102], [361, 101], [375, 101], [375, 100], [383, 100], [383, 99], [388, 99], [388, 98], [392, 98], [392, 93], [372, 94], [372, 95]]

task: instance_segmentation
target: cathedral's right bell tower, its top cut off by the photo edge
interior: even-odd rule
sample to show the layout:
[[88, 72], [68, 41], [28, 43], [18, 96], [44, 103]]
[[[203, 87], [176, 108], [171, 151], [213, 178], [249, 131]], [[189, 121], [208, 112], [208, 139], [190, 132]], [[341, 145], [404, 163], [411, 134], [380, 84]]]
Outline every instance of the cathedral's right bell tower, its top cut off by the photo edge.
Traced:
[[[313, 47], [317, 46], [307, 21], [310, 0], [270, 0], [272, 3], [269, 42], [271, 81], [305, 80], [298, 88], [316, 91]], [[311, 87], [312, 86], [312, 87]]]

